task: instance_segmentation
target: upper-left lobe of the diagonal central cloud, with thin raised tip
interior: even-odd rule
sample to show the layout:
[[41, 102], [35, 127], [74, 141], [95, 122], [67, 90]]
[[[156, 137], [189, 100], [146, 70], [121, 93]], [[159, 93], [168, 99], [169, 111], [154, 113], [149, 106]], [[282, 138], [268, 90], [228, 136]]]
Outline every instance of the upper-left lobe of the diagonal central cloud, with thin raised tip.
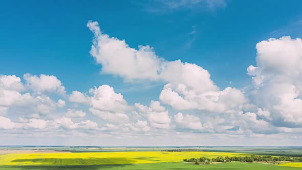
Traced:
[[160, 69], [158, 58], [149, 46], [130, 48], [125, 40], [102, 34], [97, 22], [89, 22], [89, 29], [95, 34], [91, 55], [102, 64], [104, 73], [120, 75], [126, 79], [157, 79]]

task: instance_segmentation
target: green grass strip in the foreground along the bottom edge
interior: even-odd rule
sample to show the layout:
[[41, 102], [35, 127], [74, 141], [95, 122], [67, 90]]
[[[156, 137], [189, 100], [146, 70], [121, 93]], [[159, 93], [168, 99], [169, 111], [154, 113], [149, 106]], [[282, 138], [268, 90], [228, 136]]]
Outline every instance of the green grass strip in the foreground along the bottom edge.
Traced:
[[219, 164], [195, 165], [190, 163], [150, 163], [150, 164], [126, 164], [126, 165], [90, 165], [90, 166], [0, 166], [0, 170], [98, 170], [98, 169], [212, 169], [212, 170], [295, 170], [302, 168], [275, 166], [271, 164], [261, 163], [244, 163], [244, 162], [229, 162]]

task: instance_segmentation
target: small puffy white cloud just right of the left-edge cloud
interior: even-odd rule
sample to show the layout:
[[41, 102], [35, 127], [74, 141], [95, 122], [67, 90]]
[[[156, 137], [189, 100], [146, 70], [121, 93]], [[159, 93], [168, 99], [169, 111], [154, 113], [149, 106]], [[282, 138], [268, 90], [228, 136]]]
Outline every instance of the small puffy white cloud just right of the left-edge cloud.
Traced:
[[43, 92], [66, 93], [65, 87], [62, 86], [61, 81], [56, 76], [44, 74], [37, 76], [27, 73], [23, 77], [26, 80], [26, 87], [38, 94]]

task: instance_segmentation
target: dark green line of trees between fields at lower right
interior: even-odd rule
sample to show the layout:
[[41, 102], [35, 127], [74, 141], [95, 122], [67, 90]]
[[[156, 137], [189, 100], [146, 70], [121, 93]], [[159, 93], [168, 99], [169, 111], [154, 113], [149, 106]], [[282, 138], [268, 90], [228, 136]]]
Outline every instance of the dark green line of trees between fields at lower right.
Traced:
[[211, 162], [231, 162], [231, 161], [241, 161], [241, 162], [279, 162], [279, 161], [290, 161], [290, 162], [302, 162], [302, 157], [291, 157], [291, 156], [257, 156], [257, 155], [251, 155], [251, 156], [233, 156], [233, 157], [217, 157], [217, 158], [206, 158], [206, 157], [200, 157], [200, 158], [190, 158], [190, 159], [184, 159], [185, 162], [195, 162], [195, 164], [199, 163], [211, 163]]

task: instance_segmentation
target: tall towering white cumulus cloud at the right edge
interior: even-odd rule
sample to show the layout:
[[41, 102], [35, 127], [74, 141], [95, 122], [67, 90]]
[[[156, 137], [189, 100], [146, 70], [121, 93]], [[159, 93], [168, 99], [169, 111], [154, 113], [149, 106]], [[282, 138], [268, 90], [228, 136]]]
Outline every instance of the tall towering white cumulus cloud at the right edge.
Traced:
[[284, 36], [258, 42], [253, 76], [253, 102], [267, 110], [276, 126], [302, 126], [302, 40]]

